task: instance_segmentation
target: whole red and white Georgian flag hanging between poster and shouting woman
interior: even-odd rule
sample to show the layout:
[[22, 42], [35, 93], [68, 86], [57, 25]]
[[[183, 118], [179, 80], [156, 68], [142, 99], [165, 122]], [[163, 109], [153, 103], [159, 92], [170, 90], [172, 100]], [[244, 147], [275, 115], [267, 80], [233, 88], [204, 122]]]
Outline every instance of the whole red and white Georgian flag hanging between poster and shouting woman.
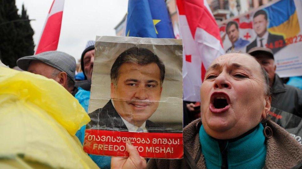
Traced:
[[219, 28], [206, 0], [177, 0], [183, 39], [183, 100], [200, 101], [206, 69], [224, 54]]

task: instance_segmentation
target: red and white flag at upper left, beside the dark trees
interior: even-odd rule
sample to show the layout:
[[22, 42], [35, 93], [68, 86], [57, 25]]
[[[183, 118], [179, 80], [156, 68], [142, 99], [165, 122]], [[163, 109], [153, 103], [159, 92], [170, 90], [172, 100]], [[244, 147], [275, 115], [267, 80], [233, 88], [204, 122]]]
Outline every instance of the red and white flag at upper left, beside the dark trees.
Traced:
[[64, 0], [54, 0], [52, 2], [35, 54], [57, 50], [61, 31], [63, 8]]

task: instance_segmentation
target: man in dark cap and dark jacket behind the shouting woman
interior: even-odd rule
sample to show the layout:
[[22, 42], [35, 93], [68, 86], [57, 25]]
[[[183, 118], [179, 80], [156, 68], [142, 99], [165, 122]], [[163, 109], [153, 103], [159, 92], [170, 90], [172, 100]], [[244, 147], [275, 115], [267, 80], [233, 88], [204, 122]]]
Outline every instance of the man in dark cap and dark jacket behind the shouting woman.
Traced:
[[275, 73], [273, 51], [264, 47], [253, 47], [248, 51], [254, 56], [267, 72], [272, 88], [271, 106], [288, 113], [302, 117], [302, 91], [296, 87], [283, 84], [278, 74]]

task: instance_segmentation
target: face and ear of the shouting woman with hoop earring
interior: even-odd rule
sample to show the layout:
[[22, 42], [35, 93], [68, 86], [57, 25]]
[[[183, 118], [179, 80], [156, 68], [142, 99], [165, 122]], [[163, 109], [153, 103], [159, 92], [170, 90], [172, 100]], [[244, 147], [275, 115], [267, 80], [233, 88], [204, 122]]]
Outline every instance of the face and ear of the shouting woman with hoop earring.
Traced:
[[257, 61], [226, 54], [212, 63], [201, 85], [202, 124], [217, 139], [238, 137], [260, 123], [270, 110]]

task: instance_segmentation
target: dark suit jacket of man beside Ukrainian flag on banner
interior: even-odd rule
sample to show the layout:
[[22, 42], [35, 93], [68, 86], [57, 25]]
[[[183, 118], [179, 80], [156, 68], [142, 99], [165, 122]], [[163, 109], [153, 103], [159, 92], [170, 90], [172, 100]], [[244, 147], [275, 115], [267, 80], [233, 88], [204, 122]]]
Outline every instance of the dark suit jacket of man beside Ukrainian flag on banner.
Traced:
[[[246, 46], [246, 52], [248, 52], [253, 47], [257, 46], [257, 38], [251, 42], [248, 46]], [[269, 33], [267, 37], [267, 46], [271, 50], [273, 50], [274, 54], [277, 53], [279, 50], [281, 50], [283, 47], [286, 46], [286, 43], [284, 41], [284, 38], [282, 35], [276, 35]], [[263, 44], [263, 47], [266, 47], [265, 44]]]

